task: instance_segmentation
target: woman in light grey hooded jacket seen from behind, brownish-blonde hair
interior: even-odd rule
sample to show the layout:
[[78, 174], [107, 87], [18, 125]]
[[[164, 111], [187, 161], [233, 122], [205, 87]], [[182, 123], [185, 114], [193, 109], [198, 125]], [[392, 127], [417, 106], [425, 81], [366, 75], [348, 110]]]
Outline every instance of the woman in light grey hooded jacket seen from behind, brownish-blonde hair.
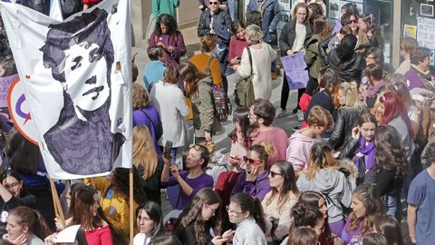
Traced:
[[351, 204], [352, 190], [346, 176], [334, 164], [331, 147], [326, 142], [314, 142], [310, 163], [297, 180], [300, 191], [318, 191], [328, 201], [328, 222], [334, 234], [343, 230], [344, 209]]

